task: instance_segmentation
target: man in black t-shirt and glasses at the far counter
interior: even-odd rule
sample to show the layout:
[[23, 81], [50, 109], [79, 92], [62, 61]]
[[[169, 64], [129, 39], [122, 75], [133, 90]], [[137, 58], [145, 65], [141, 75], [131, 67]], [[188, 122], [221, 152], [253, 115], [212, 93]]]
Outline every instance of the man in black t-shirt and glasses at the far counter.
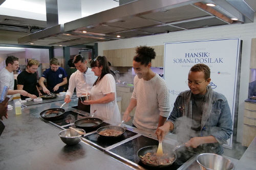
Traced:
[[20, 72], [20, 74], [17, 76], [17, 89], [25, 90], [28, 92], [28, 95], [20, 95], [21, 99], [36, 99], [37, 97], [42, 95], [42, 93], [40, 93], [39, 89], [36, 86], [36, 71], [39, 65], [39, 61], [31, 59], [27, 64], [26, 70]]

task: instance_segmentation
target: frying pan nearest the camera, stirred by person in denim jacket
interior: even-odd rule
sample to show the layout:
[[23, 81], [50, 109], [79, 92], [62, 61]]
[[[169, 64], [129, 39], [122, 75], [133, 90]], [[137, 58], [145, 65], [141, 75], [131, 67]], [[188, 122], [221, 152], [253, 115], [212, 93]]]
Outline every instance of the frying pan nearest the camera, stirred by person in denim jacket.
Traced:
[[[151, 163], [148, 163], [148, 162], [145, 162], [142, 160], [141, 156], [144, 156], [145, 154], [147, 153], [157, 153], [157, 149], [158, 149], [158, 146], [157, 145], [153, 145], [153, 146], [148, 146], [148, 147], [144, 147], [144, 148], [141, 148], [139, 149], [139, 151], [137, 152], [137, 156], [139, 157], [140, 161], [145, 164], [145, 165], [148, 165], [148, 166], [154, 166], [154, 167], [166, 167], [166, 166], [170, 166], [174, 163], [174, 161], [176, 161], [177, 159], [177, 155], [175, 153], [175, 150], [177, 150], [178, 148], [180, 147], [183, 147], [185, 144], [181, 144], [181, 145], [178, 145], [177, 147], [175, 147], [173, 150], [167, 150], [165, 149], [164, 150], [164, 154], [167, 153], [167, 156], [166, 158], [168, 159], [169, 157], [174, 157], [174, 160], [168, 164], [164, 164], [164, 165], [155, 165], [155, 164], [151, 164]], [[165, 157], [164, 157], [165, 158]]]

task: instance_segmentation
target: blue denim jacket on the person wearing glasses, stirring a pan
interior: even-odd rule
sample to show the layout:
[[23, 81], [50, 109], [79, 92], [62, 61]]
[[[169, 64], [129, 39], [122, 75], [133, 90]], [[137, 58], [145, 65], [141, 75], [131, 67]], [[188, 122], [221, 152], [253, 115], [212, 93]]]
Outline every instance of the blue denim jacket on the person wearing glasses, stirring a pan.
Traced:
[[[207, 101], [208, 105], [204, 105], [203, 115], [201, 120], [200, 136], [214, 136], [217, 143], [205, 143], [199, 146], [202, 149], [200, 152], [211, 152], [222, 154], [222, 144], [227, 144], [227, 139], [232, 134], [232, 117], [228, 106], [227, 99], [221, 93], [215, 92], [210, 86], [207, 86]], [[190, 90], [181, 92], [174, 104], [173, 111], [167, 121], [174, 124], [172, 133], [178, 132], [177, 140], [179, 142], [187, 142], [189, 140], [189, 133], [191, 133], [189, 122], [179, 122], [179, 117], [185, 116], [191, 120], [192, 114], [192, 92]], [[206, 101], [206, 102], [207, 102]], [[187, 109], [187, 110], [186, 110]], [[207, 110], [208, 109], [208, 110]], [[189, 111], [188, 111], [189, 110]], [[208, 112], [208, 113], [207, 113]], [[192, 121], [192, 120], [191, 120]], [[181, 132], [180, 130], [183, 129]], [[185, 129], [185, 132], [184, 132]]]

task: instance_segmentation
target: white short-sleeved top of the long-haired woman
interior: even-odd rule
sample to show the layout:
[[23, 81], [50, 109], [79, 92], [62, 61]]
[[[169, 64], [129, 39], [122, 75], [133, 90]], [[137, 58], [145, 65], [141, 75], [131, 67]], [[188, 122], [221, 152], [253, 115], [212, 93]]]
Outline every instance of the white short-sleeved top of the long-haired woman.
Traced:
[[91, 89], [91, 100], [99, 100], [105, 94], [115, 93], [115, 100], [106, 104], [92, 104], [91, 113], [97, 110], [94, 115], [108, 118], [115, 122], [121, 121], [120, 112], [116, 103], [116, 82], [111, 74], [106, 74], [101, 81]]

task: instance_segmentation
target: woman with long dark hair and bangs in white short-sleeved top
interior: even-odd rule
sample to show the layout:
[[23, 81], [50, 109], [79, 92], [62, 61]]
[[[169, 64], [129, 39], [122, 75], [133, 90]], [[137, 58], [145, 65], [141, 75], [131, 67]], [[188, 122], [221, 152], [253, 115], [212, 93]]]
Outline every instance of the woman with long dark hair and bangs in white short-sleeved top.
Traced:
[[111, 75], [108, 60], [105, 56], [98, 56], [91, 62], [91, 67], [98, 79], [91, 89], [91, 100], [83, 101], [83, 104], [91, 105], [91, 113], [97, 110], [94, 115], [120, 122], [120, 112], [116, 103], [116, 82]]

